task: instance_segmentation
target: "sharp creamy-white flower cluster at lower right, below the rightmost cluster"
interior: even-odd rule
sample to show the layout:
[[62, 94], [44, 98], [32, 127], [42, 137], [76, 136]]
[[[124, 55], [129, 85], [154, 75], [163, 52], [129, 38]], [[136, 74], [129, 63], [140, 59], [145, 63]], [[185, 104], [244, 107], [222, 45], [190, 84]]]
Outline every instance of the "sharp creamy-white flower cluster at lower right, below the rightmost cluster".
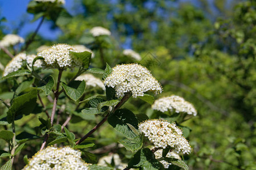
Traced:
[[149, 139], [155, 147], [166, 148], [170, 146], [172, 151], [179, 154], [189, 154], [191, 146], [187, 139], [183, 137], [182, 131], [175, 123], [161, 119], [147, 120], [139, 124], [139, 131]]

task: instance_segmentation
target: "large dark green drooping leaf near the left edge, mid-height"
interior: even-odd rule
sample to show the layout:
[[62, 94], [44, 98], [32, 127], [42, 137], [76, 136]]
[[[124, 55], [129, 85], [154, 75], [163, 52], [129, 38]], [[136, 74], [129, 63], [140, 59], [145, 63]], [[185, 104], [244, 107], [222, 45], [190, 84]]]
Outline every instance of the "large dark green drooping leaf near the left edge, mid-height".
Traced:
[[38, 92], [36, 90], [32, 90], [27, 94], [16, 97], [13, 99], [13, 104], [9, 108], [7, 112], [7, 121], [9, 124], [14, 121], [15, 116], [22, 114], [30, 114], [35, 106]]

